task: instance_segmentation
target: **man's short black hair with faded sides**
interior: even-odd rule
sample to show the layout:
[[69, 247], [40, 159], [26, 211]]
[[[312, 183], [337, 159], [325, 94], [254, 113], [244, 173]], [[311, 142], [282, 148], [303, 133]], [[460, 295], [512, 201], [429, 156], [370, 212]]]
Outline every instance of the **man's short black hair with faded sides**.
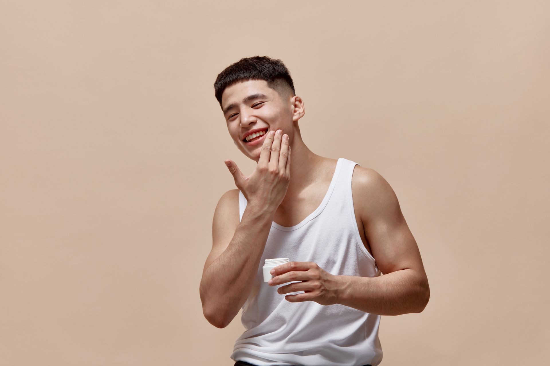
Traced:
[[294, 82], [282, 60], [267, 56], [245, 57], [227, 66], [216, 77], [214, 90], [220, 107], [222, 107], [223, 91], [233, 83], [243, 80], [265, 80], [267, 86], [279, 93], [281, 97], [289, 93], [290, 89], [292, 89], [292, 95], [296, 95]]

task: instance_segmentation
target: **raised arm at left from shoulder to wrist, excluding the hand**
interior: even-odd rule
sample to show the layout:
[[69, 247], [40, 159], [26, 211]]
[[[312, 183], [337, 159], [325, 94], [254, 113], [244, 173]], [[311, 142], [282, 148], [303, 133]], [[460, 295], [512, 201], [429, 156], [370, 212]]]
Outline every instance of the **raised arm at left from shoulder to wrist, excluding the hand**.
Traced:
[[216, 206], [212, 251], [200, 284], [204, 316], [218, 328], [231, 322], [249, 296], [274, 216], [272, 210], [262, 211], [248, 204], [235, 228], [234, 220], [238, 222], [239, 218], [238, 195], [238, 189], [230, 190]]

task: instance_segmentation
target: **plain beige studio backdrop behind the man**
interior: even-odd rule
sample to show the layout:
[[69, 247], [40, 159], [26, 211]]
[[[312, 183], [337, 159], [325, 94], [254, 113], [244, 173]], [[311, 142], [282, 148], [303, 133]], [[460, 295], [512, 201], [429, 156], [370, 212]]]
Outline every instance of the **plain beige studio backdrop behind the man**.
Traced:
[[0, 363], [232, 365], [202, 316], [245, 174], [213, 82], [281, 58], [305, 143], [392, 185], [431, 300], [383, 365], [546, 365], [547, 1], [0, 2]]

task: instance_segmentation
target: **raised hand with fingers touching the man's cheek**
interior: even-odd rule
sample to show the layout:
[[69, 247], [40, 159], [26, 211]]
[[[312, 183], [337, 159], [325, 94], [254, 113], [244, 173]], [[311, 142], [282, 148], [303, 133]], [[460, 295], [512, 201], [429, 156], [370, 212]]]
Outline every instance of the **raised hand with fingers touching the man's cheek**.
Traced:
[[278, 129], [268, 132], [263, 142], [260, 159], [250, 176], [245, 177], [237, 164], [226, 160], [229, 172], [233, 174], [235, 185], [252, 205], [279, 207], [287, 194], [290, 182], [290, 147], [288, 135]]

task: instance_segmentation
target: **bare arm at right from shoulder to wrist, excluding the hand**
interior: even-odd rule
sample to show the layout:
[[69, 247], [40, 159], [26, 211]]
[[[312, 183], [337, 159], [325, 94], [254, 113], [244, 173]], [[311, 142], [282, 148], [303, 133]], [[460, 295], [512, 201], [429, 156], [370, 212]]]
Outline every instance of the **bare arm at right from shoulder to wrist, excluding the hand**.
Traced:
[[337, 276], [338, 303], [380, 315], [420, 313], [430, 299], [430, 286], [397, 196], [376, 171], [356, 167], [356, 173], [365, 237], [383, 275]]

